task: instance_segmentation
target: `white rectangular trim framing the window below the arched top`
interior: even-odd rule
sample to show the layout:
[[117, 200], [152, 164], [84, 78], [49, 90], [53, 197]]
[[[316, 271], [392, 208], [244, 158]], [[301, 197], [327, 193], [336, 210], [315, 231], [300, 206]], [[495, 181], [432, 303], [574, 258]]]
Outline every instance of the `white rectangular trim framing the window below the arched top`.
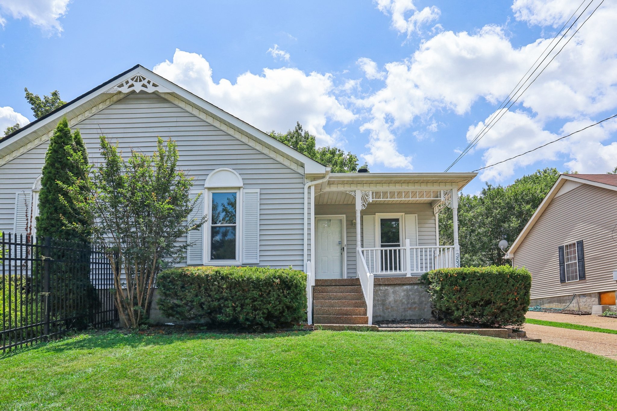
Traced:
[[[236, 259], [233, 260], [213, 260], [210, 254], [212, 233], [212, 193], [236, 193]], [[204, 230], [204, 266], [239, 266], [242, 264], [242, 187], [222, 187], [217, 189], [205, 189], [204, 199], [208, 201], [204, 212], [208, 216], [208, 221]]]

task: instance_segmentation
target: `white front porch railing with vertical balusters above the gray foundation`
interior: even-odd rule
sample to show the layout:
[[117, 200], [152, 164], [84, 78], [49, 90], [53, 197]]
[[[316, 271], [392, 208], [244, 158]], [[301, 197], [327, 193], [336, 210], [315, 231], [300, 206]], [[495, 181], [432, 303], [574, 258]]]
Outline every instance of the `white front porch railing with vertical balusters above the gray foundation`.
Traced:
[[456, 267], [453, 245], [412, 247], [407, 240], [404, 247], [359, 250], [366, 269], [375, 275], [421, 275], [434, 269]]

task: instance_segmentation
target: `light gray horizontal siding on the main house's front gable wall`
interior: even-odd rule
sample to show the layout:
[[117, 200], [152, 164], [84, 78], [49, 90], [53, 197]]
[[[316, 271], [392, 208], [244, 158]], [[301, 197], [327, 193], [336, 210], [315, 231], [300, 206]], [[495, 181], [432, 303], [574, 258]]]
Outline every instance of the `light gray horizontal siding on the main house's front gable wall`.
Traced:
[[[117, 140], [124, 152], [133, 148], [152, 153], [157, 136], [171, 138], [180, 151], [179, 168], [194, 177], [198, 189], [203, 189], [214, 169], [234, 169], [245, 189], [260, 190], [259, 265], [302, 269], [303, 174], [155, 94], [129, 94], [75, 128], [80, 129], [94, 161], [100, 158], [101, 134]], [[31, 190], [41, 174], [47, 147], [48, 143], [41, 144], [0, 166], [0, 230], [12, 231], [15, 193]]]

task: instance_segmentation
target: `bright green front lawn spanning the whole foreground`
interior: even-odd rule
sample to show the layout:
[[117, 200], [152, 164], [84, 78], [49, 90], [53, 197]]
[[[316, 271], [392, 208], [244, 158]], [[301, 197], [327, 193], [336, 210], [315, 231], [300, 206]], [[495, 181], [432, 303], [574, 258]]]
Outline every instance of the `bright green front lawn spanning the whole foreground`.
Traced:
[[92, 333], [0, 359], [0, 409], [611, 409], [615, 364], [453, 333]]

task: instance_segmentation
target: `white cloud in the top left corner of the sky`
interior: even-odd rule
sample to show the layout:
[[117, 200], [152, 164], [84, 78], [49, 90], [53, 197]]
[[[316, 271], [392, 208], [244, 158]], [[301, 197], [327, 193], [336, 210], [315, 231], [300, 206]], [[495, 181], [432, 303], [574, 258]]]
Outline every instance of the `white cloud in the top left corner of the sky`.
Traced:
[[62, 25], [58, 19], [68, 12], [70, 0], [0, 0], [0, 25], [6, 25], [6, 18], [28, 18], [49, 35], [60, 33]]

